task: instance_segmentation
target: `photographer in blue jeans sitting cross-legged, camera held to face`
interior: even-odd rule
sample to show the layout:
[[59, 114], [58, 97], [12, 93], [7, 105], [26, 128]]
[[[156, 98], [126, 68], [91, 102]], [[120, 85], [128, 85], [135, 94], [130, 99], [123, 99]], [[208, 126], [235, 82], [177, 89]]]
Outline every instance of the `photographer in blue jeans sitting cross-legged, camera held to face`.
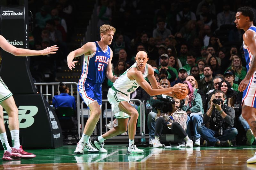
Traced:
[[204, 123], [210, 122], [210, 127], [199, 126], [197, 132], [205, 139], [206, 146], [230, 146], [229, 140], [237, 135], [237, 129], [233, 128], [235, 110], [224, 104], [226, 95], [217, 90], [215, 99], [204, 114]]

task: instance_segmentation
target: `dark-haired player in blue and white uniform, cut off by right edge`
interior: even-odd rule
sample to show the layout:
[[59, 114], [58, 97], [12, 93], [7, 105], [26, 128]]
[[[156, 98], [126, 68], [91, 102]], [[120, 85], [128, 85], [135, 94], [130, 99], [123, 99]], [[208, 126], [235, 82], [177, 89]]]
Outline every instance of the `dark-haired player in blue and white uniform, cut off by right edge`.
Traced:
[[[242, 116], [251, 127], [246, 132], [246, 136], [251, 139], [256, 136], [256, 27], [253, 26], [253, 19], [254, 12], [250, 7], [241, 7], [236, 12], [236, 27], [245, 31], [243, 47], [247, 64], [247, 74], [241, 81], [238, 90], [244, 91]], [[256, 163], [256, 152], [254, 157], [247, 160], [247, 163]]]

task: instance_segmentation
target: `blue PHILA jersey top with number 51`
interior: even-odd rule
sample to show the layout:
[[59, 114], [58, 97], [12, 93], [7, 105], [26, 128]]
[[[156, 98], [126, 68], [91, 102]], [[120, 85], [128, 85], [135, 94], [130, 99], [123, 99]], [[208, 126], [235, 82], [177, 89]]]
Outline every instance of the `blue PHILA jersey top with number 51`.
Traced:
[[94, 42], [96, 49], [91, 55], [84, 55], [81, 78], [86, 82], [103, 83], [108, 62], [110, 60], [110, 47], [103, 51], [98, 41]]

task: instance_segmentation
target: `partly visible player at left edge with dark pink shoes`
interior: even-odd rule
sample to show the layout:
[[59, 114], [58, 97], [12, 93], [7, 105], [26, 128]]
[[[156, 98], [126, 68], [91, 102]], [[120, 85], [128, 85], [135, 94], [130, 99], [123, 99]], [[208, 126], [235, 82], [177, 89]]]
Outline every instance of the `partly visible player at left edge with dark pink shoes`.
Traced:
[[[15, 56], [33, 56], [33, 55], [48, 55], [55, 54], [58, 50], [56, 45], [52, 47], [47, 47], [43, 50], [30, 50], [24, 48], [16, 48], [9, 44], [6, 39], [0, 35], [0, 47], [12, 55]], [[14, 61], [15, 62], [15, 61]], [[0, 140], [4, 147], [3, 160], [14, 160], [14, 159], [31, 159], [36, 157], [33, 153], [25, 152], [20, 145], [20, 128], [18, 119], [18, 108], [15, 105], [14, 99], [12, 97], [12, 92], [4, 84], [3, 80], [0, 78]], [[9, 129], [12, 136], [12, 148], [10, 147], [6, 131], [4, 127], [4, 110], [6, 110], [9, 116]]]

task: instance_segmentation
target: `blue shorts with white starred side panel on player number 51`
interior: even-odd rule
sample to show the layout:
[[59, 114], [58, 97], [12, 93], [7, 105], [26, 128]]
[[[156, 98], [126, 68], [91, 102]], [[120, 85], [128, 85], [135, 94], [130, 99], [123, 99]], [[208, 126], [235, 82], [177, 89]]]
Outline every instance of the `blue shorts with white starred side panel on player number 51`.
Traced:
[[[81, 80], [81, 79], [80, 79]], [[80, 96], [83, 98], [84, 103], [89, 106], [92, 102], [97, 101], [100, 108], [102, 105], [102, 93], [101, 93], [101, 83], [87, 83], [86, 81], [78, 82], [77, 90]]]

